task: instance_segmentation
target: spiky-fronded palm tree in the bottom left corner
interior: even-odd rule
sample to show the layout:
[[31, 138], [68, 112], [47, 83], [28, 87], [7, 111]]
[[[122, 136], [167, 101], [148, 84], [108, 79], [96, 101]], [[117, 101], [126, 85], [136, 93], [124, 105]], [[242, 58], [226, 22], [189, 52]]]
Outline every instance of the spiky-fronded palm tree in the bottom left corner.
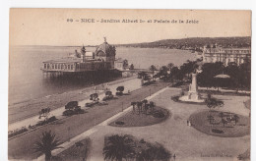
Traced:
[[55, 138], [55, 134], [49, 132], [43, 132], [40, 140], [34, 143], [34, 152], [38, 152], [38, 155], [44, 154], [45, 161], [50, 160], [51, 151], [57, 148], [63, 148], [59, 146], [62, 142], [58, 138]]

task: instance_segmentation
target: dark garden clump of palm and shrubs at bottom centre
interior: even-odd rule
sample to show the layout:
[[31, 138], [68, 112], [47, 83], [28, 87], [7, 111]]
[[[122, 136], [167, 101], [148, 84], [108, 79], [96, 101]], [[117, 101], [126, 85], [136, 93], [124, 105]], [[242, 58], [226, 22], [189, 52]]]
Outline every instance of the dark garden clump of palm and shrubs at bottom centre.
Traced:
[[104, 160], [116, 161], [175, 160], [175, 154], [172, 155], [160, 143], [150, 143], [129, 134], [105, 136], [103, 155]]

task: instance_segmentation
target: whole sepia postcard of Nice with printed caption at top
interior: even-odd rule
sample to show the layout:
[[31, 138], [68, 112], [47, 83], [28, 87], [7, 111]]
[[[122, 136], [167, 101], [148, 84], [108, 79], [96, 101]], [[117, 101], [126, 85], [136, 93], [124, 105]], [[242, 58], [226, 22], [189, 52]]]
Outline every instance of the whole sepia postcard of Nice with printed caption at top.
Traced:
[[251, 11], [10, 9], [9, 160], [250, 160]]

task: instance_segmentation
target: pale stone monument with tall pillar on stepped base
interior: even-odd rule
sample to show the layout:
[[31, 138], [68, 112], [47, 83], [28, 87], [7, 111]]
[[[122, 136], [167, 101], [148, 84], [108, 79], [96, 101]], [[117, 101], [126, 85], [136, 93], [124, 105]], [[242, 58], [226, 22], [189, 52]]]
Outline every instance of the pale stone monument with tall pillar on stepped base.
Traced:
[[189, 84], [189, 90], [187, 95], [179, 97], [179, 100], [186, 102], [204, 102], [205, 100], [201, 98], [198, 93], [197, 86], [197, 73], [192, 74], [192, 82]]

